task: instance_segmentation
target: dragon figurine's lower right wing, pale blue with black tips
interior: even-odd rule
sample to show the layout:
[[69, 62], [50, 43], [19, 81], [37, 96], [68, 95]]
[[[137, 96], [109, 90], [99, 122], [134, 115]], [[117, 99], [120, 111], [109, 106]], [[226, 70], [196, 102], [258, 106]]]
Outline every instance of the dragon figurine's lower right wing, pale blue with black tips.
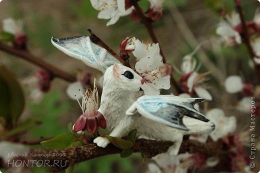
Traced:
[[195, 103], [203, 100], [203, 98], [182, 98], [174, 95], [143, 95], [136, 100], [135, 106], [137, 111], [146, 118], [170, 127], [188, 130], [182, 122], [184, 115], [205, 122], [209, 121], [193, 107]]

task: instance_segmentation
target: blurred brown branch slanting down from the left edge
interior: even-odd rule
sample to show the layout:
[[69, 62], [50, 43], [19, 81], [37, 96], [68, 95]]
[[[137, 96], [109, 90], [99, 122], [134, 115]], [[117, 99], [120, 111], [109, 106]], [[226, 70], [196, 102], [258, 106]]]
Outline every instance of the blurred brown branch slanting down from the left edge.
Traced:
[[59, 77], [59, 78], [62, 78], [66, 81], [70, 81], [70, 82], [73, 82], [73, 81], [76, 81], [76, 77], [59, 69], [59, 68], [56, 68], [55, 66], [41, 60], [40, 58], [37, 58], [35, 57], [34, 55], [30, 54], [30, 52], [26, 51], [26, 50], [21, 50], [21, 49], [16, 49], [16, 48], [13, 48], [9, 45], [6, 45], [2, 42], [0, 42], [0, 50], [2, 51], [5, 51], [5, 52], [8, 52], [12, 55], [15, 55], [15, 56], [18, 56], [22, 59], [25, 59], [31, 63], [34, 63], [35, 65], [49, 71], [53, 76], [55, 77]]

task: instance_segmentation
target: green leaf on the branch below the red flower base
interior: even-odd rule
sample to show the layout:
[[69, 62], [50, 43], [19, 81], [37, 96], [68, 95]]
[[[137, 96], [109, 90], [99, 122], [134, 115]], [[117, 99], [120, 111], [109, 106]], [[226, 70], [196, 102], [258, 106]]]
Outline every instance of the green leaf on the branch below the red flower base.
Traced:
[[73, 142], [73, 136], [62, 134], [50, 140], [42, 141], [40, 143], [48, 149], [66, 149], [69, 148], [71, 146], [71, 143]]

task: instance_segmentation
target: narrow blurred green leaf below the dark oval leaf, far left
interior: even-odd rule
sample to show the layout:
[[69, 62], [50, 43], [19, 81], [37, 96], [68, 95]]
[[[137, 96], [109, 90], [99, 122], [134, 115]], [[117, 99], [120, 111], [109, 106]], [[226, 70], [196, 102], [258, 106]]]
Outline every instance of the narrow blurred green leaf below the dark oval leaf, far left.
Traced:
[[41, 120], [37, 118], [28, 118], [24, 120], [23, 122], [19, 123], [15, 128], [11, 129], [5, 137], [10, 137], [15, 134], [18, 134], [19, 132], [28, 129], [32, 125], [41, 124]]

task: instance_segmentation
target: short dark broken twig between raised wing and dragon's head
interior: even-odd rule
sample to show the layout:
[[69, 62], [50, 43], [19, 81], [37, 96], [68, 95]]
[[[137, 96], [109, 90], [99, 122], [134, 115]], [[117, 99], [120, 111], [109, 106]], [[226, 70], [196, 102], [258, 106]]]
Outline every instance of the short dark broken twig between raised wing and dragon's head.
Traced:
[[111, 55], [113, 55], [116, 59], [118, 59], [122, 64], [124, 64], [127, 67], [130, 67], [128, 60], [124, 60], [123, 58], [121, 58], [120, 55], [118, 55], [113, 49], [111, 49], [106, 43], [104, 43], [104, 41], [102, 41], [98, 36], [96, 36], [91, 31], [91, 29], [87, 29], [87, 31], [90, 33], [90, 40], [93, 43], [100, 45], [101, 47], [106, 49]]

